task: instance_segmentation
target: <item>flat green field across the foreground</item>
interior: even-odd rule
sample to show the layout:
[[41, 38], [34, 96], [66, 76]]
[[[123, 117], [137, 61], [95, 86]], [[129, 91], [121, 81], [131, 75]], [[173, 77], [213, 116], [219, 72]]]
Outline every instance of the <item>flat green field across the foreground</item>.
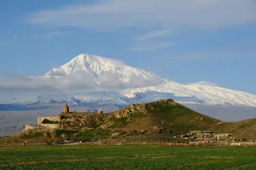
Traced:
[[256, 148], [0, 146], [0, 169], [256, 169]]

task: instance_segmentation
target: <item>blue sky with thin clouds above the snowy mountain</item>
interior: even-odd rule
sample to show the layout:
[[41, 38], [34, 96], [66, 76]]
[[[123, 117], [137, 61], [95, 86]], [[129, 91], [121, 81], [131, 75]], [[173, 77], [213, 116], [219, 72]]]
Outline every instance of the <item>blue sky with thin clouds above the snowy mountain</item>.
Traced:
[[42, 75], [89, 53], [256, 94], [254, 0], [10, 0], [0, 22], [1, 75]]

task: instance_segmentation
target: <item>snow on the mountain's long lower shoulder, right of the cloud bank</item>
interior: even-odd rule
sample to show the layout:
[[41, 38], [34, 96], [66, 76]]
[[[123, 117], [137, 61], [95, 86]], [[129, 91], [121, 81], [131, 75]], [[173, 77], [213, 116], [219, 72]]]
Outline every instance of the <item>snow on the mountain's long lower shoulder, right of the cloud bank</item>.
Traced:
[[201, 84], [179, 84], [165, 82], [158, 86], [134, 88], [126, 90], [125, 96], [129, 99], [136, 98], [145, 92], [158, 92], [165, 94], [162, 98], [173, 97], [180, 103], [194, 103], [205, 105], [245, 105], [256, 107], [256, 95], [238, 90], [229, 90], [218, 86]]

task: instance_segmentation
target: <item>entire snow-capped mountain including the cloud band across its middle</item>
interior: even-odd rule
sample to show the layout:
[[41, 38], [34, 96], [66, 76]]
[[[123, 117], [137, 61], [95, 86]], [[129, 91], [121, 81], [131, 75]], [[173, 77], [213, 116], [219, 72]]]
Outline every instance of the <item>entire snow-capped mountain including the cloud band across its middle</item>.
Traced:
[[[47, 90], [41, 89], [43, 92], [30, 98], [24, 94], [29, 99], [23, 101], [26, 104], [73, 102], [128, 105], [173, 98], [184, 104], [256, 107], [256, 95], [247, 92], [207, 84], [171, 82], [143, 69], [126, 66], [122, 61], [91, 54], [80, 54], [65, 65], [30, 79], [29, 86], [33, 81]], [[16, 101], [23, 103], [20, 102], [21, 96], [12, 95]], [[0, 101], [6, 104], [5, 98]]]

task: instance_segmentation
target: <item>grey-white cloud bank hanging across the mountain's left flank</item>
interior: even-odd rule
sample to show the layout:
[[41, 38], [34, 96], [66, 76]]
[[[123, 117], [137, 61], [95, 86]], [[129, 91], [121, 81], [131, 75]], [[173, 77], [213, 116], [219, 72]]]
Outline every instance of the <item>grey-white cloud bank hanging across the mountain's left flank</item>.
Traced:
[[122, 82], [117, 73], [105, 72], [96, 77], [92, 73], [76, 71], [70, 75], [51, 78], [14, 75], [0, 78], [0, 104], [37, 101], [39, 98], [70, 98], [72, 96], [89, 97], [95, 92], [115, 92], [118, 94], [126, 88], [154, 86], [162, 80], [132, 76], [130, 82]]

